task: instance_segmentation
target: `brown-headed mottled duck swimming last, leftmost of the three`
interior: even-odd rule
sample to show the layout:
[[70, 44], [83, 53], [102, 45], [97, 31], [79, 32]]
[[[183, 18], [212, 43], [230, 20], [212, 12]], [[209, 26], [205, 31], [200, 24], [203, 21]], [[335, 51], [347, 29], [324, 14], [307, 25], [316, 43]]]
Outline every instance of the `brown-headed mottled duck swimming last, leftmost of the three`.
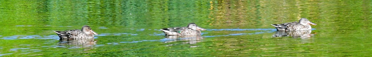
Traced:
[[92, 39], [94, 35], [98, 35], [89, 26], [84, 25], [81, 30], [67, 30], [67, 31], [54, 31], [60, 39]]

